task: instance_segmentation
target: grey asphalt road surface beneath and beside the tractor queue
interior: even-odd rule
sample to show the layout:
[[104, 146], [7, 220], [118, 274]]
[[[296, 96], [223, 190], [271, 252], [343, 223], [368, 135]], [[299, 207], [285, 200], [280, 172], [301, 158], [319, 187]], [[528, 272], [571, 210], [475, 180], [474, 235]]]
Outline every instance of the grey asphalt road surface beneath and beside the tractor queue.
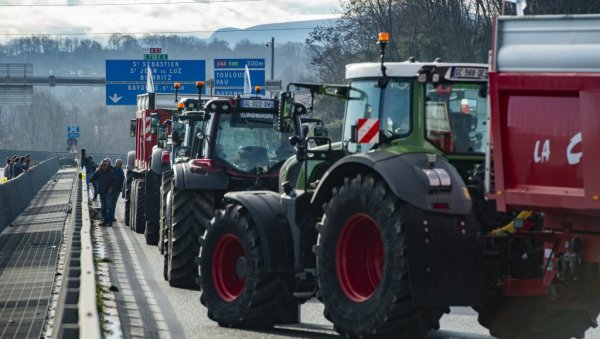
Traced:
[[[119, 317], [106, 317], [107, 337], [124, 338], [333, 338], [339, 337], [323, 317], [323, 306], [311, 300], [302, 306], [302, 322], [278, 326], [271, 331], [222, 328], [209, 320], [200, 304], [200, 292], [173, 288], [162, 277], [163, 258], [156, 246], [146, 245], [122, 222], [123, 201], [117, 206], [118, 222], [101, 228]], [[110, 308], [107, 311], [110, 313]], [[121, 328], [121, 330], [119, 330]], [[470, 308], [453, 308], [441, 320], [441, 329], [429, 338], [493, 338], [477, 323]], [[588, 330], [586, 338], [600, 338], [600, 329]]]

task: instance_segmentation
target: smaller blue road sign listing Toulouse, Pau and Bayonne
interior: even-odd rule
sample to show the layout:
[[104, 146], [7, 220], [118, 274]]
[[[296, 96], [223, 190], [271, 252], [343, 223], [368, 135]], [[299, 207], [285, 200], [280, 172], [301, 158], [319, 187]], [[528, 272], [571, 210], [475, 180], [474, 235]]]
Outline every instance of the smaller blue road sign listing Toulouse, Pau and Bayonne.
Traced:
[[[216, 95], [236, 95], [244, 92], [246, 66], [250, 73], [252, 93], [255, 86], [265, 87], [265, 59], [215, 59]], [[264, 94], [264, 92], [263, 92]]]

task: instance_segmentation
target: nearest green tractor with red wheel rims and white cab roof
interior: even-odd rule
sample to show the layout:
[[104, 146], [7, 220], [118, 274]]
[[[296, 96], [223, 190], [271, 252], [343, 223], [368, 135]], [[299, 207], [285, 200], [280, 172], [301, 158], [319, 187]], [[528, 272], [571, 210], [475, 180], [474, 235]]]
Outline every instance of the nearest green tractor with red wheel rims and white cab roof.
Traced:
[[[293, 139], [279, 193], [224, 196], [198, 260], [219, 325], [298, 321], [317, 297], [345, 336], [418, 337], [479, 300], [470, 185], [485, 162], [488, 68], [386, 63], [378, 44], [381, 63], [348, 65], [348, 85], [296, 84], [346, 101], [341, 141]], [[281, 97], [277, 129], [294, 95]]]

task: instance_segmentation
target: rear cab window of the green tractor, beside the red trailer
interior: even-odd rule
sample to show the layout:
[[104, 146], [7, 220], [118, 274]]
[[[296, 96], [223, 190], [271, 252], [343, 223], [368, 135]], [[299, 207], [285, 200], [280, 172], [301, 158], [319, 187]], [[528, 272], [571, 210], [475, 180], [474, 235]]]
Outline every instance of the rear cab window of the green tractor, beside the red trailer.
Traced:
[[427, 84], [425, 132], [444, 153], [483, 153], [487, 136], [487, 98], [481, 83]]

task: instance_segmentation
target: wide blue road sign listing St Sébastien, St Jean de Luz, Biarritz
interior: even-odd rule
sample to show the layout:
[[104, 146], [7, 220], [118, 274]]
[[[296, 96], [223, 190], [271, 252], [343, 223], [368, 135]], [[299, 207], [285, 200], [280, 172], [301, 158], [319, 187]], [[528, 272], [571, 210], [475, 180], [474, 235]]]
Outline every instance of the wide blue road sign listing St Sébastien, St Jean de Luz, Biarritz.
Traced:
[[196, 81], [206, 77], [204, 60], [106, 60], [106, 105], [136, 105], [136, 96], [146, 92], [148, 67], [157, 93], [175, 93], [179, 82], [179, 93], [196, 94]]

